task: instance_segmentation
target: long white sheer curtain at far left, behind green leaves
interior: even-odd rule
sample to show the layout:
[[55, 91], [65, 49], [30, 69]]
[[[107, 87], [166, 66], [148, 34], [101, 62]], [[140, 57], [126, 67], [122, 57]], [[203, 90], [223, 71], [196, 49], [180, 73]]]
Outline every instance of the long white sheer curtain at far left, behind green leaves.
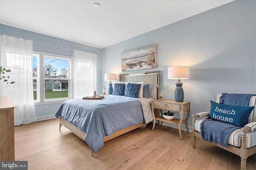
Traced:
[[[31, 40], [7, 35], [0, 38], [0, 65], [11, 70], [14, 84], [0, 81], [0, 96], [10, 96], [14, 104], [14, 125], [36, 121], [33, 97], [33, 48]], [[7, 75], [7, 73], [6, 73]]]

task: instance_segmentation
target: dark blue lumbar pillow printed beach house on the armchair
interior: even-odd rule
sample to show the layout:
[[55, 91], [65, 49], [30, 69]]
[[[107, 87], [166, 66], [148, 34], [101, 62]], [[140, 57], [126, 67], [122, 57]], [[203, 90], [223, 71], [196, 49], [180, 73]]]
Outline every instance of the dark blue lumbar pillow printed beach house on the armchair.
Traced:
[[213, 101], [210, 101], [210, 103], [211, 111], [209, 118], [238, 127], [244, 127], [248, 123], [248, 118], [254, 108], [254, 106], [231, 106]]

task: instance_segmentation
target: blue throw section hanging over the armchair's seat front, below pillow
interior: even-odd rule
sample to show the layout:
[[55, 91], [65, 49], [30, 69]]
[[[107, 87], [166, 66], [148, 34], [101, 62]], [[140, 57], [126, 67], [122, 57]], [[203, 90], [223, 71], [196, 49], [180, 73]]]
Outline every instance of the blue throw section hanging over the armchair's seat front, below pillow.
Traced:
[[224, 147], [228, 147], [228, 138], [236, 129], [240, 127], [212, 119], [203, 120], [200, 127], [202, 139]]

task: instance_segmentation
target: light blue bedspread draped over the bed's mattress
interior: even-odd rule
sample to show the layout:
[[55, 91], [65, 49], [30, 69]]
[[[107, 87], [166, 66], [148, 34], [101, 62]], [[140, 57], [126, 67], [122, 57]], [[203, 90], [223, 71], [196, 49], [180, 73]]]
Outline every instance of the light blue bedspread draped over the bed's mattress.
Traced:
[[103, 100], [67, 100], [55, 116], [63, 117], [86, 133], [84, 141], [95, 153], [103, 146], [105, 136], [144, 122], [140, 102], [124, 96], [105, 96]]

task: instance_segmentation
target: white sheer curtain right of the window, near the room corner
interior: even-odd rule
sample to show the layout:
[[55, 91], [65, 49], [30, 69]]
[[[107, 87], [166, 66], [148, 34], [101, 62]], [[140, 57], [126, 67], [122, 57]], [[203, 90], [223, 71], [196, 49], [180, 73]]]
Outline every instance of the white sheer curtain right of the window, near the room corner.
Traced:
[[72, 98], [93, 96], [96, 91], [97, 54], [74, 50]]

